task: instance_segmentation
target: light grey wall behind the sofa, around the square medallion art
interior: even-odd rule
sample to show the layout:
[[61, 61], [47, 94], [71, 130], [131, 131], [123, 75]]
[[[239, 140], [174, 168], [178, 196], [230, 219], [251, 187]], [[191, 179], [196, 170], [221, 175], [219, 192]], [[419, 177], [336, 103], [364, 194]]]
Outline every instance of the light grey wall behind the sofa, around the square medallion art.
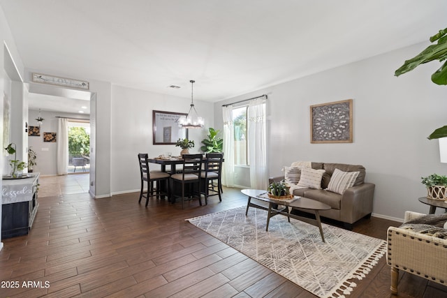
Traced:
[[[214, 105], [222, 129], [223, 103], [268, 94], [270, 177], [293, 161], [361, 164], [366, 181], [376, 184], [376, 216], [402, 218], [404, 211], [427, 213], [420, 177], [447, 174], [437, 140], [427, 140], [447, 124], [447, 87], [430, 81], [439, 65], [426, 64], [401, 77], [403, 61], [427, 46], [413, 45], [332, 70], [259, 90]], [[311, 144], [309, 106], [353, 98], [353, 143]]]

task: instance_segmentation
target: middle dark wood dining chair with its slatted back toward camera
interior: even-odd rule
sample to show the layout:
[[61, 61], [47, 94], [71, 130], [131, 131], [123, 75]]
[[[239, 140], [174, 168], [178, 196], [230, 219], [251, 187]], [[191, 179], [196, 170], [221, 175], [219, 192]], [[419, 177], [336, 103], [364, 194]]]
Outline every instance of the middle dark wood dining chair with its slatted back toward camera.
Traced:
[[[179, 174], [172, 174], [171, 181], [171, 195], [172, 202], [175, 202], [175, 184], [182, 186], [182, 209], [184, 209], [185, 201], [185, 186], [189, 185], [188, 191], [189, 200], [193, 200], [194, 193], [196, 193], [198, 202], [202, 206], [202, 200], [200, 199], [200, 174], [202, 172], [202, 154], [183, 154], [183, 170]], [[196, 186], [196, 187], [195, 187]]]

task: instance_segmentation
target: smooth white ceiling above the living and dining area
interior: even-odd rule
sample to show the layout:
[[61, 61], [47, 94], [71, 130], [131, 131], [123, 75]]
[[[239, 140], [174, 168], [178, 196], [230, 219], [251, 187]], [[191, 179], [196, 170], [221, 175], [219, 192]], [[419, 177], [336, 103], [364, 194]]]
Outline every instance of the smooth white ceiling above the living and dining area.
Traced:
[[[426, 41], [445, 0], [0, 0], [24, 66], [215, 102]], [[416, 53], [415, 53], [416, 54]], [[410, 58], [410, 57], [405, 57]], [[396, 68], [402, 64], [396, 61]], [[177, 85], [180, 89], [168, 88]]]

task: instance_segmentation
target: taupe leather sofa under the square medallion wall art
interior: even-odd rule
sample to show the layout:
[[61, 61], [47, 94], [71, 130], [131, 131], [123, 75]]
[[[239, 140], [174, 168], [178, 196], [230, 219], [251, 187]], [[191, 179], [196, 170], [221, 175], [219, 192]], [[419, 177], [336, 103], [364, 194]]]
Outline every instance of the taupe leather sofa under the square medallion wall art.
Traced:
[[[320, 211], [320, 215], [325, 218], [332, 218], [342, 222], [344, 228], [349, 230], [352, 230], [353, 223], [356, 223], [360, 218], [371, 216], [375, 184], [365, 183], [365, 167], [362, 165], [347, 165], [344, 163], [312, 162], [312, 168], [315, 170], [325, 170], [323, 178], [321, 179], [321, 188], [323, 189], [295, 189], [293, 191], [294, 195], [300, 195], [305, 198], [328, 204], [331, 209]], [[354, 185], [351, 188], [346, 189], [343, 195], [325, 191], [325, 188], [328, 187], [330, 177], [336, 168], [343, 172], [360, 172]], [[281, 181], [281, 179], [284, 179], [284, 176], [272, 177], [269, 179], [269, 183], [272, 183], [272, 181]], [[300, 211], [305, 212], [304, 209]], [[294, 210], [293, 213], [296, 213], [296, 211]]]

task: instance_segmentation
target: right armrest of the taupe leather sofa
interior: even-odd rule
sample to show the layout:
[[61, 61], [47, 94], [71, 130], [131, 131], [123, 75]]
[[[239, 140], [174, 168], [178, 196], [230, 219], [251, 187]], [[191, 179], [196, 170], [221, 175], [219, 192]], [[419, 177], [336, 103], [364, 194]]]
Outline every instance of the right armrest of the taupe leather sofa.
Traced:
[[363, 183], [346, 189], [342, 196], [340, 219], [344, 223], [355, 223], [372, 213], [375, 184]]

